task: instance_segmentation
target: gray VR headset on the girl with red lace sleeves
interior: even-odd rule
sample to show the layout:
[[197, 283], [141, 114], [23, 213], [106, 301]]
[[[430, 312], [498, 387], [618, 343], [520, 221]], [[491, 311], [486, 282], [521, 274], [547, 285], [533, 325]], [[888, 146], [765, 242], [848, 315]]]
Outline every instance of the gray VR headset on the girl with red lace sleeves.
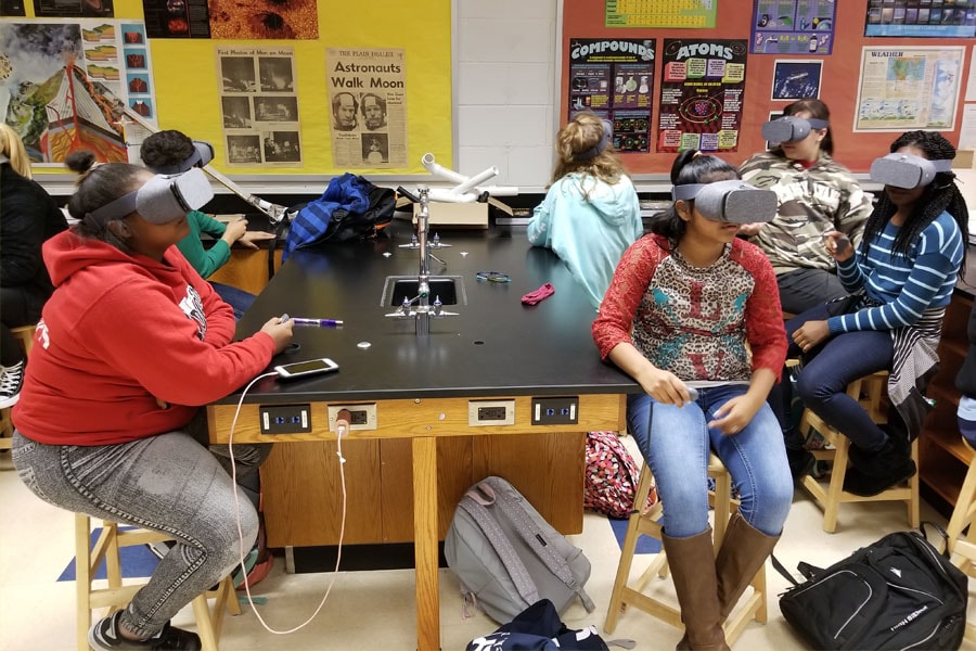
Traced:
[[703, 217], [730, 224], [770, 221], [779, 207], [775, 192], [760, 190], [739, 179], [675, 186], [671, 197], [675, 201], [695, 200], [695, 209]]

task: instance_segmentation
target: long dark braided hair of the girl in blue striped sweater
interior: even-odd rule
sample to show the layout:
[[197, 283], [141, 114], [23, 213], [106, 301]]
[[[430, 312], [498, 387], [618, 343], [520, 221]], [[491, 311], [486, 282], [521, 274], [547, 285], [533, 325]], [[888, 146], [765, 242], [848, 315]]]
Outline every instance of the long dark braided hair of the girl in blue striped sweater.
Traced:
[[[925, 153], [929, 161], [951, 161], [955, 158], [955, 148], [938, 131], [906, 131], [891, 143], [890, 151], [895, 153], [903, 146], [916, 146]], [[881, 199], [871, 212], [871, 216], [864, 225], [864, 238], [861, 240], [861, 253], [868, 254], [869, 243], [881, 233], [885, 225], [895, 215], [897, 206], [891, 203], [888, 193], [882, 193]], [[925, 187], [925, 191], [915, 202], [912, 215], [906, 219], [895, 237], [892, 253], [907, 256], [912, 243], [919, 239], [920, 233], [942, 213], [949, 213], [962, 232], [963, 242], [968, 241], [969, 210], [966, 208], [965, 199], [955, 184], [953, 171], [936, 173], [933, 181]], [[965, 275], [966, 246], [963, 247], [963, 264], [960, 273]]]

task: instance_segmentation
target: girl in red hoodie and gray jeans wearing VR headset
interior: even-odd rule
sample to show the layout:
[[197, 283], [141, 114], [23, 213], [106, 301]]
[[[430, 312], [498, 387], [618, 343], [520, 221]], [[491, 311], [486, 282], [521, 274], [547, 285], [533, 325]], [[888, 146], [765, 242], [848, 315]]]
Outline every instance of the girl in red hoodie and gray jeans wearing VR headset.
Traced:
[[[274, 317], [234, 341], [230, 306], [175, 246], [190, 232], [187, 213], [211, 197], [200, 169], [154, 176], [99, 165], [68, 202], [79, 224], [43, 246], [55, 290], [14, 407], [14, 465], [49, 503], [178, 542], [125, 610], [92, 626], [92, 649], [200, 649], [170, 617], [257, 536], [257, 513], [228, 459], [194, 435], [206, 441], [201, 406], [265, 370], [292, 323]], [[223, 455], [242, 477], [268, 447], [224, 446]]]

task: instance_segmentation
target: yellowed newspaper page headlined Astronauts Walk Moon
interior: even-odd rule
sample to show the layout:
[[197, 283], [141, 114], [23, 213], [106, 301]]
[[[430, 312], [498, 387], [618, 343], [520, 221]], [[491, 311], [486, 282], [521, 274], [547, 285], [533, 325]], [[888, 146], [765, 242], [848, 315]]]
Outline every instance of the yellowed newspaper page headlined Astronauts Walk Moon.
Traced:
[[407, 166], [403, 50], [330, 48], [325, 55], [335, 167]]

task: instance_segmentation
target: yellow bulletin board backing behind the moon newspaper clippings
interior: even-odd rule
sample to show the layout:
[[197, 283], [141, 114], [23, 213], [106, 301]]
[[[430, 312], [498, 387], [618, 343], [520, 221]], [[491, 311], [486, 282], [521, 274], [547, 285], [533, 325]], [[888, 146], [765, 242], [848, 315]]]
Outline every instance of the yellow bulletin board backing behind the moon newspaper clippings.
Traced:
[[[220, 0], [233, 1], [233, 0]], [[34, 20], [28, 0], [27, 17]], [[213, 2], [211, 7], [219, 4]], [[143, 20], [139, 0], [115, 0], [114, 20]], [[42, 20], [42, 18], [40, 18]], [[179, 129], [215, 148], [211, 165], [237, 175], [426, 174], [421, 157], [434, 153], [450, 167], [452, 145], [451, 2], [449, 0], [376, 0], [355, 3], [318, 0], [319, 38], [316, 40], [217, 40], [151, 38], [159, 129]], [[300, 166], [259, 165], [228, 167], [220, 104], [217, 49], [229, 47], [288, 48], [295, 58], [295, 90], [301, 141]], [[407, 167], [336, 168], [333, 164], [331, 105], [328, 94], [329, 48], [402, 49], [406, 60]], [[63, 169], [36, 168], [38, 173]]]

